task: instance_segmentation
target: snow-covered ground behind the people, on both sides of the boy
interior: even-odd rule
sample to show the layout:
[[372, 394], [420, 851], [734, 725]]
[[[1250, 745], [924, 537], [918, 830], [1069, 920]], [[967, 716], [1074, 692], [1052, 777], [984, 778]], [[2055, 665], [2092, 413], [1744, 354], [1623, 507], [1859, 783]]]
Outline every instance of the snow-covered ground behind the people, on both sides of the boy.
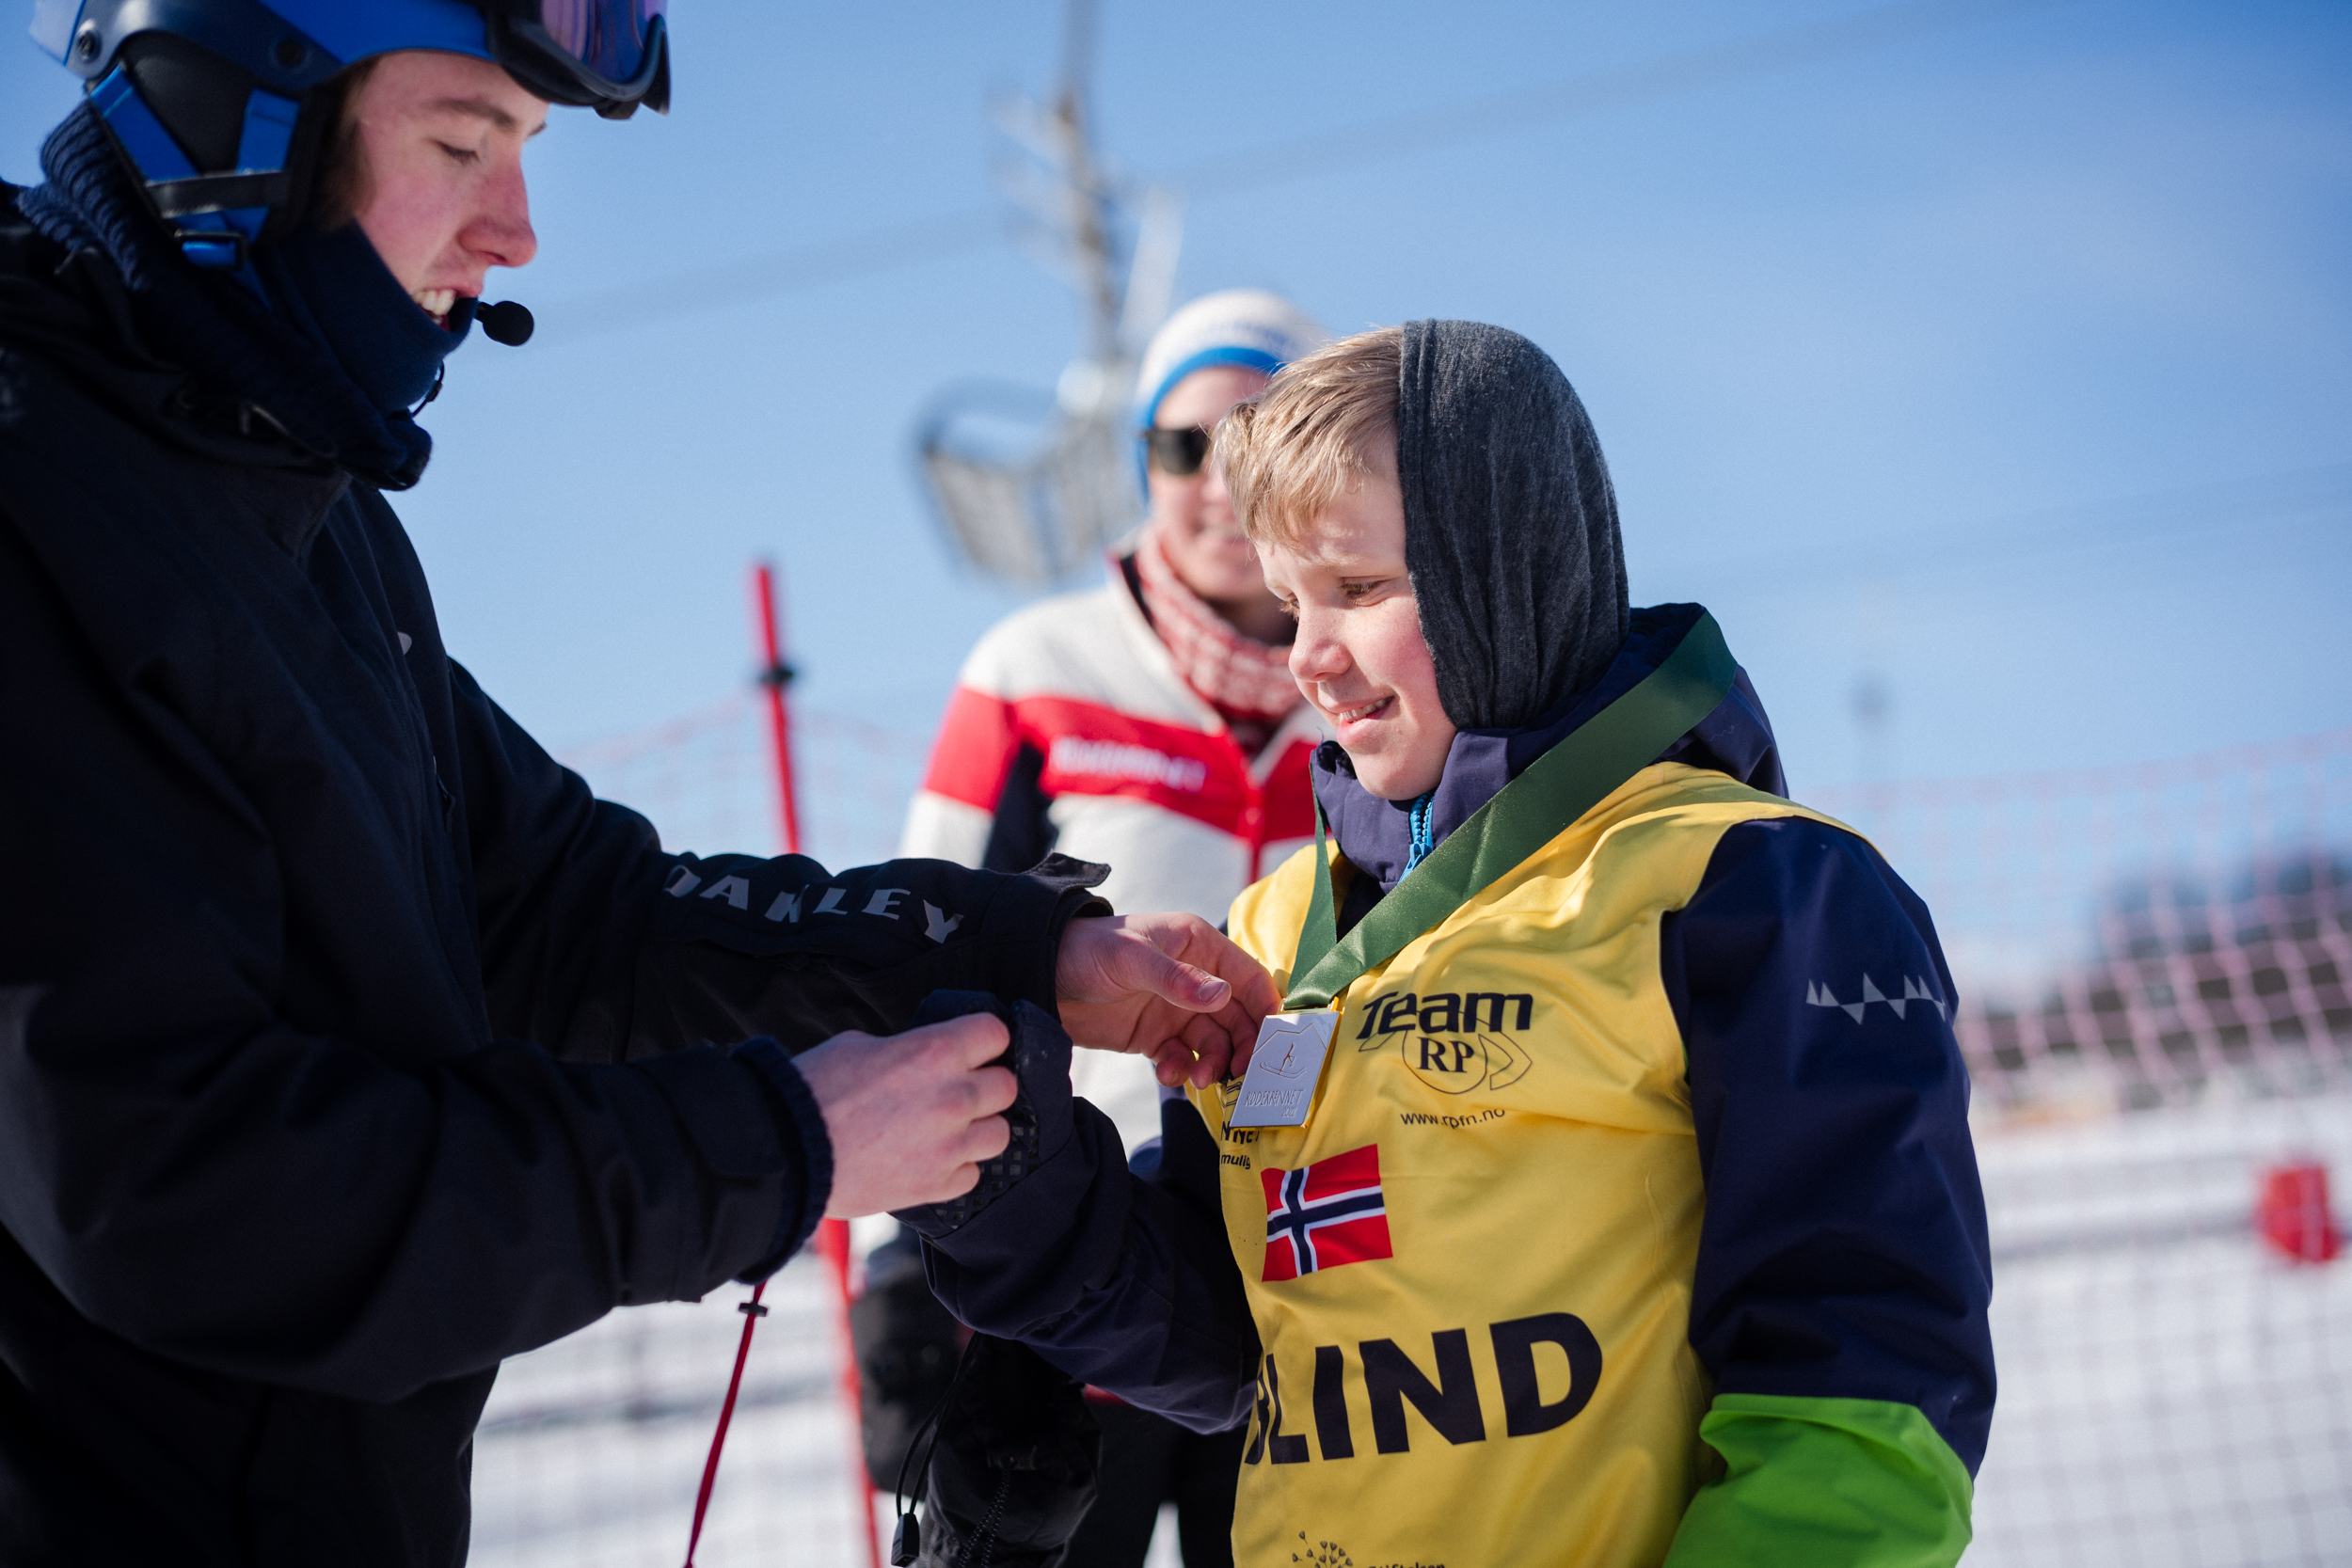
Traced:
[[[2352, 1095], [1990, 1128], [1978, 1152], [2002, 1401], [1969, 1563], [2352, 1563], [2352, 1255], [2288, 1262], [2251, 1227], [2286, 1159], [2326, 1161], [2345, 1218]], [[682, 1563], [743, 1295], [510, 1361], [475, 1448], [473, 1561]], [[696, 1561], [861, 1568], [818, 1265], [769, 1305]]]

